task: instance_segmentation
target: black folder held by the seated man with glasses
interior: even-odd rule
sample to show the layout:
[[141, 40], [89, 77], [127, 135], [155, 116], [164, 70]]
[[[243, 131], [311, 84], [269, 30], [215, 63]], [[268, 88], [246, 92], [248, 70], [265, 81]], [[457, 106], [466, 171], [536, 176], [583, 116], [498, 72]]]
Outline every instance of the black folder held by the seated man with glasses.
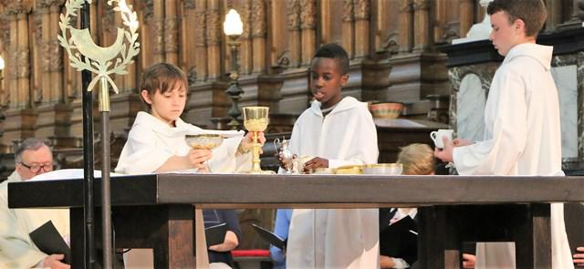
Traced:
[[57, 228], [53, 222], [48, 221], [35, 231], [29, 233], [30, 239], [36, 244], [36, 247], [43, 253], [51, 254], [65, 254], [65, 259], [61, 262], [71, 264], [71, 249], [58, 233]]

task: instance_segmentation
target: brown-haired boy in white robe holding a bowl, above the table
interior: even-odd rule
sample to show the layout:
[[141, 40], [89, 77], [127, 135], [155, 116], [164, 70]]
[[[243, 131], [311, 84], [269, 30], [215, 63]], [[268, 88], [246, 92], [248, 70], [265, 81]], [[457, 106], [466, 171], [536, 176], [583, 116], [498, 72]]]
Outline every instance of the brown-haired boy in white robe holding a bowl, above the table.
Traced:
[[[205, 170], [207, 160], [212, 172], [249, 170], [251, 138], [244, 139], [243, 131], [200, 129], [185, 123], [179, 117], [186, 105], [186, 95], [187, 80], [180, 68], [160, 63], [144, 70], [141, 98], [150, 106], [151, 113], [138, 112], [116, 172]], [[228, 139], [213, 151], [191, 149], [185, 135], [203, 133], [221, 134]]]

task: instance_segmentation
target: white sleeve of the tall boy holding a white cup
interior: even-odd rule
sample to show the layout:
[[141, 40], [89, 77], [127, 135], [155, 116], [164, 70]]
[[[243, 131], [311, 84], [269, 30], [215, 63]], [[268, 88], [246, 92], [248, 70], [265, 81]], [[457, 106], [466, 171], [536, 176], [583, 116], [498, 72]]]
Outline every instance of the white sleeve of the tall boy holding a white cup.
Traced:
[[522, 76], [506, 72], [494, 80], [499, 88], [493, 136], [453, 151], [454, 166], [461, 175], [514, 174], [527, 142], [527, 103]]

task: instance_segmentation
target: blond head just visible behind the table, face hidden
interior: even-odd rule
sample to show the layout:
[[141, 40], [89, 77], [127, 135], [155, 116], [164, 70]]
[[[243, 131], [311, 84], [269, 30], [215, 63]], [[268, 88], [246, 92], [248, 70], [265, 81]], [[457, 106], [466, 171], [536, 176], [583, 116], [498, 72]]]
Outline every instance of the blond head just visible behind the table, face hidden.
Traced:
[[398, 161], [404, 175], [433, 175], [434, 151], [426, 144], [410, 144], [400, 149]]

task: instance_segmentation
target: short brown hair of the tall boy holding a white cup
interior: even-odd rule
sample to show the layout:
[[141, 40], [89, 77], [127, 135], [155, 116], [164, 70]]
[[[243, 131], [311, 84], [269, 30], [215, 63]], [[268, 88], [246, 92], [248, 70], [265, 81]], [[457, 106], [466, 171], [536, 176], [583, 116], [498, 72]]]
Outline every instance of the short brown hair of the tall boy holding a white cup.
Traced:
[[495, 0], [486, 7], [488, 15], [505, 11], [509, 23], [521, 19], [526, 24], [526, 36], [537, 36], [546, 23], [547, 9], [542, 0]]

